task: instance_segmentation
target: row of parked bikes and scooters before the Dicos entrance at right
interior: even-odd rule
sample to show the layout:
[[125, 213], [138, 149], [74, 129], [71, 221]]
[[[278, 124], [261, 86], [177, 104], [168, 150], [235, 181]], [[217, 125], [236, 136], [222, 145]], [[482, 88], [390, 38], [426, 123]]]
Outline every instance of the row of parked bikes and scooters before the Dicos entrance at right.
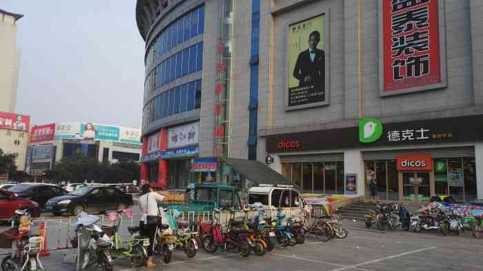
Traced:
[[432, 202], [410, 214], [400, 203], [379, 204], [364, 216], [366, 228], [396, 230], [401, 227], [411, 232], [433, 231], [443, 235], [471, 231], [480, 239], [483, 234], [483, 208], [477, 205]]

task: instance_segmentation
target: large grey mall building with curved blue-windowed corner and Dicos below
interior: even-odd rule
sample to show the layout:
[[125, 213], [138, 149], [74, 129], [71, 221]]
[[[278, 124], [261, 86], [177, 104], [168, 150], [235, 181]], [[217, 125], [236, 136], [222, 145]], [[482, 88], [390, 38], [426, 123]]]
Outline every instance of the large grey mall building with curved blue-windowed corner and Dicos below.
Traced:
[[199, 181], [195, 158], [230, 157], [307, 192], [483, 198], [482, 10], [470, 0], [137, 0], [141, 177], [184, 188]]

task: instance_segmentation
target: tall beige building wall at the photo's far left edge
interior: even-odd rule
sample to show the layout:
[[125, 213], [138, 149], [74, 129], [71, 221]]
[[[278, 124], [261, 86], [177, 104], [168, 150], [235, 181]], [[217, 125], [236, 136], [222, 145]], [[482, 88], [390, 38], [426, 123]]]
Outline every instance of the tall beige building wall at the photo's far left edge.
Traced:
[[15, 112], [19, 79], [20, 50], [13, 17], [0, 14], [0, 111]]

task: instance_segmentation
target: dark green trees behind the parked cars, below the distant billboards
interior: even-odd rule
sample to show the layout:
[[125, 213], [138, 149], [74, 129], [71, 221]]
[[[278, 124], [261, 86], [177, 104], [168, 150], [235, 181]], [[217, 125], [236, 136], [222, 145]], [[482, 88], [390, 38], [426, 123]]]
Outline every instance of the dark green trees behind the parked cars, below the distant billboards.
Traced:
[[70, 183], [130, 183], [139, 180], [139, 163], [119, 161], [117, 163], [96, 163], [94, 157], [77, 154], [62, 159], [55, 167], [46, 172], [52, 181]]

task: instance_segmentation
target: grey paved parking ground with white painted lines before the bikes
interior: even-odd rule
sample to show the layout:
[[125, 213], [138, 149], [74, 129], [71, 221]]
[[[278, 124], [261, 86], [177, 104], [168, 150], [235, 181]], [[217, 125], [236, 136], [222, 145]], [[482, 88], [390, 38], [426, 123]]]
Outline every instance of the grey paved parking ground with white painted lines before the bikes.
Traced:
[[[343, 223], [349, 231], [346, 239], [321, 243], [308, 238], [304, 245], [275, 249], [264, 257], [250, 255], [248, 259], [233, 252], [207, 254], [202, 248], [195, 258], [187, 259], [184, 252], [177, 251], [172, 263], [159, 265], [155, 270], [483, 270], [483, 257], [480, 256], [483, 240], [473, 239], [471, 233], [443, 237], [431, 232], [377, 232], [365, 230], [362, 223]], [[48, 271], [74, 271], [74, 263], [62, 263], [63, 254], [71, 253], [75, 250], [52, 251], [50, 257], [43, 257], [41, 261]], [[115, 270], [132, 268], [129, 261], [117, 261]]]

